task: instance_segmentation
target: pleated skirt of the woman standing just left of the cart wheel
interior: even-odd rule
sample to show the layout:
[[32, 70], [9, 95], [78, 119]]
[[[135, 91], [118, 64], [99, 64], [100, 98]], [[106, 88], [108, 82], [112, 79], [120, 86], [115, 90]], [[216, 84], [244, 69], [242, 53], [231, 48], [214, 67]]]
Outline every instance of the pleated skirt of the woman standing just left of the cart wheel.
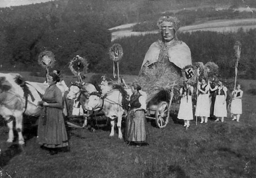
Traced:
[[144, 110], [129, 110], [125, 128], [126, 143], [148, 143], [148, 135]]

